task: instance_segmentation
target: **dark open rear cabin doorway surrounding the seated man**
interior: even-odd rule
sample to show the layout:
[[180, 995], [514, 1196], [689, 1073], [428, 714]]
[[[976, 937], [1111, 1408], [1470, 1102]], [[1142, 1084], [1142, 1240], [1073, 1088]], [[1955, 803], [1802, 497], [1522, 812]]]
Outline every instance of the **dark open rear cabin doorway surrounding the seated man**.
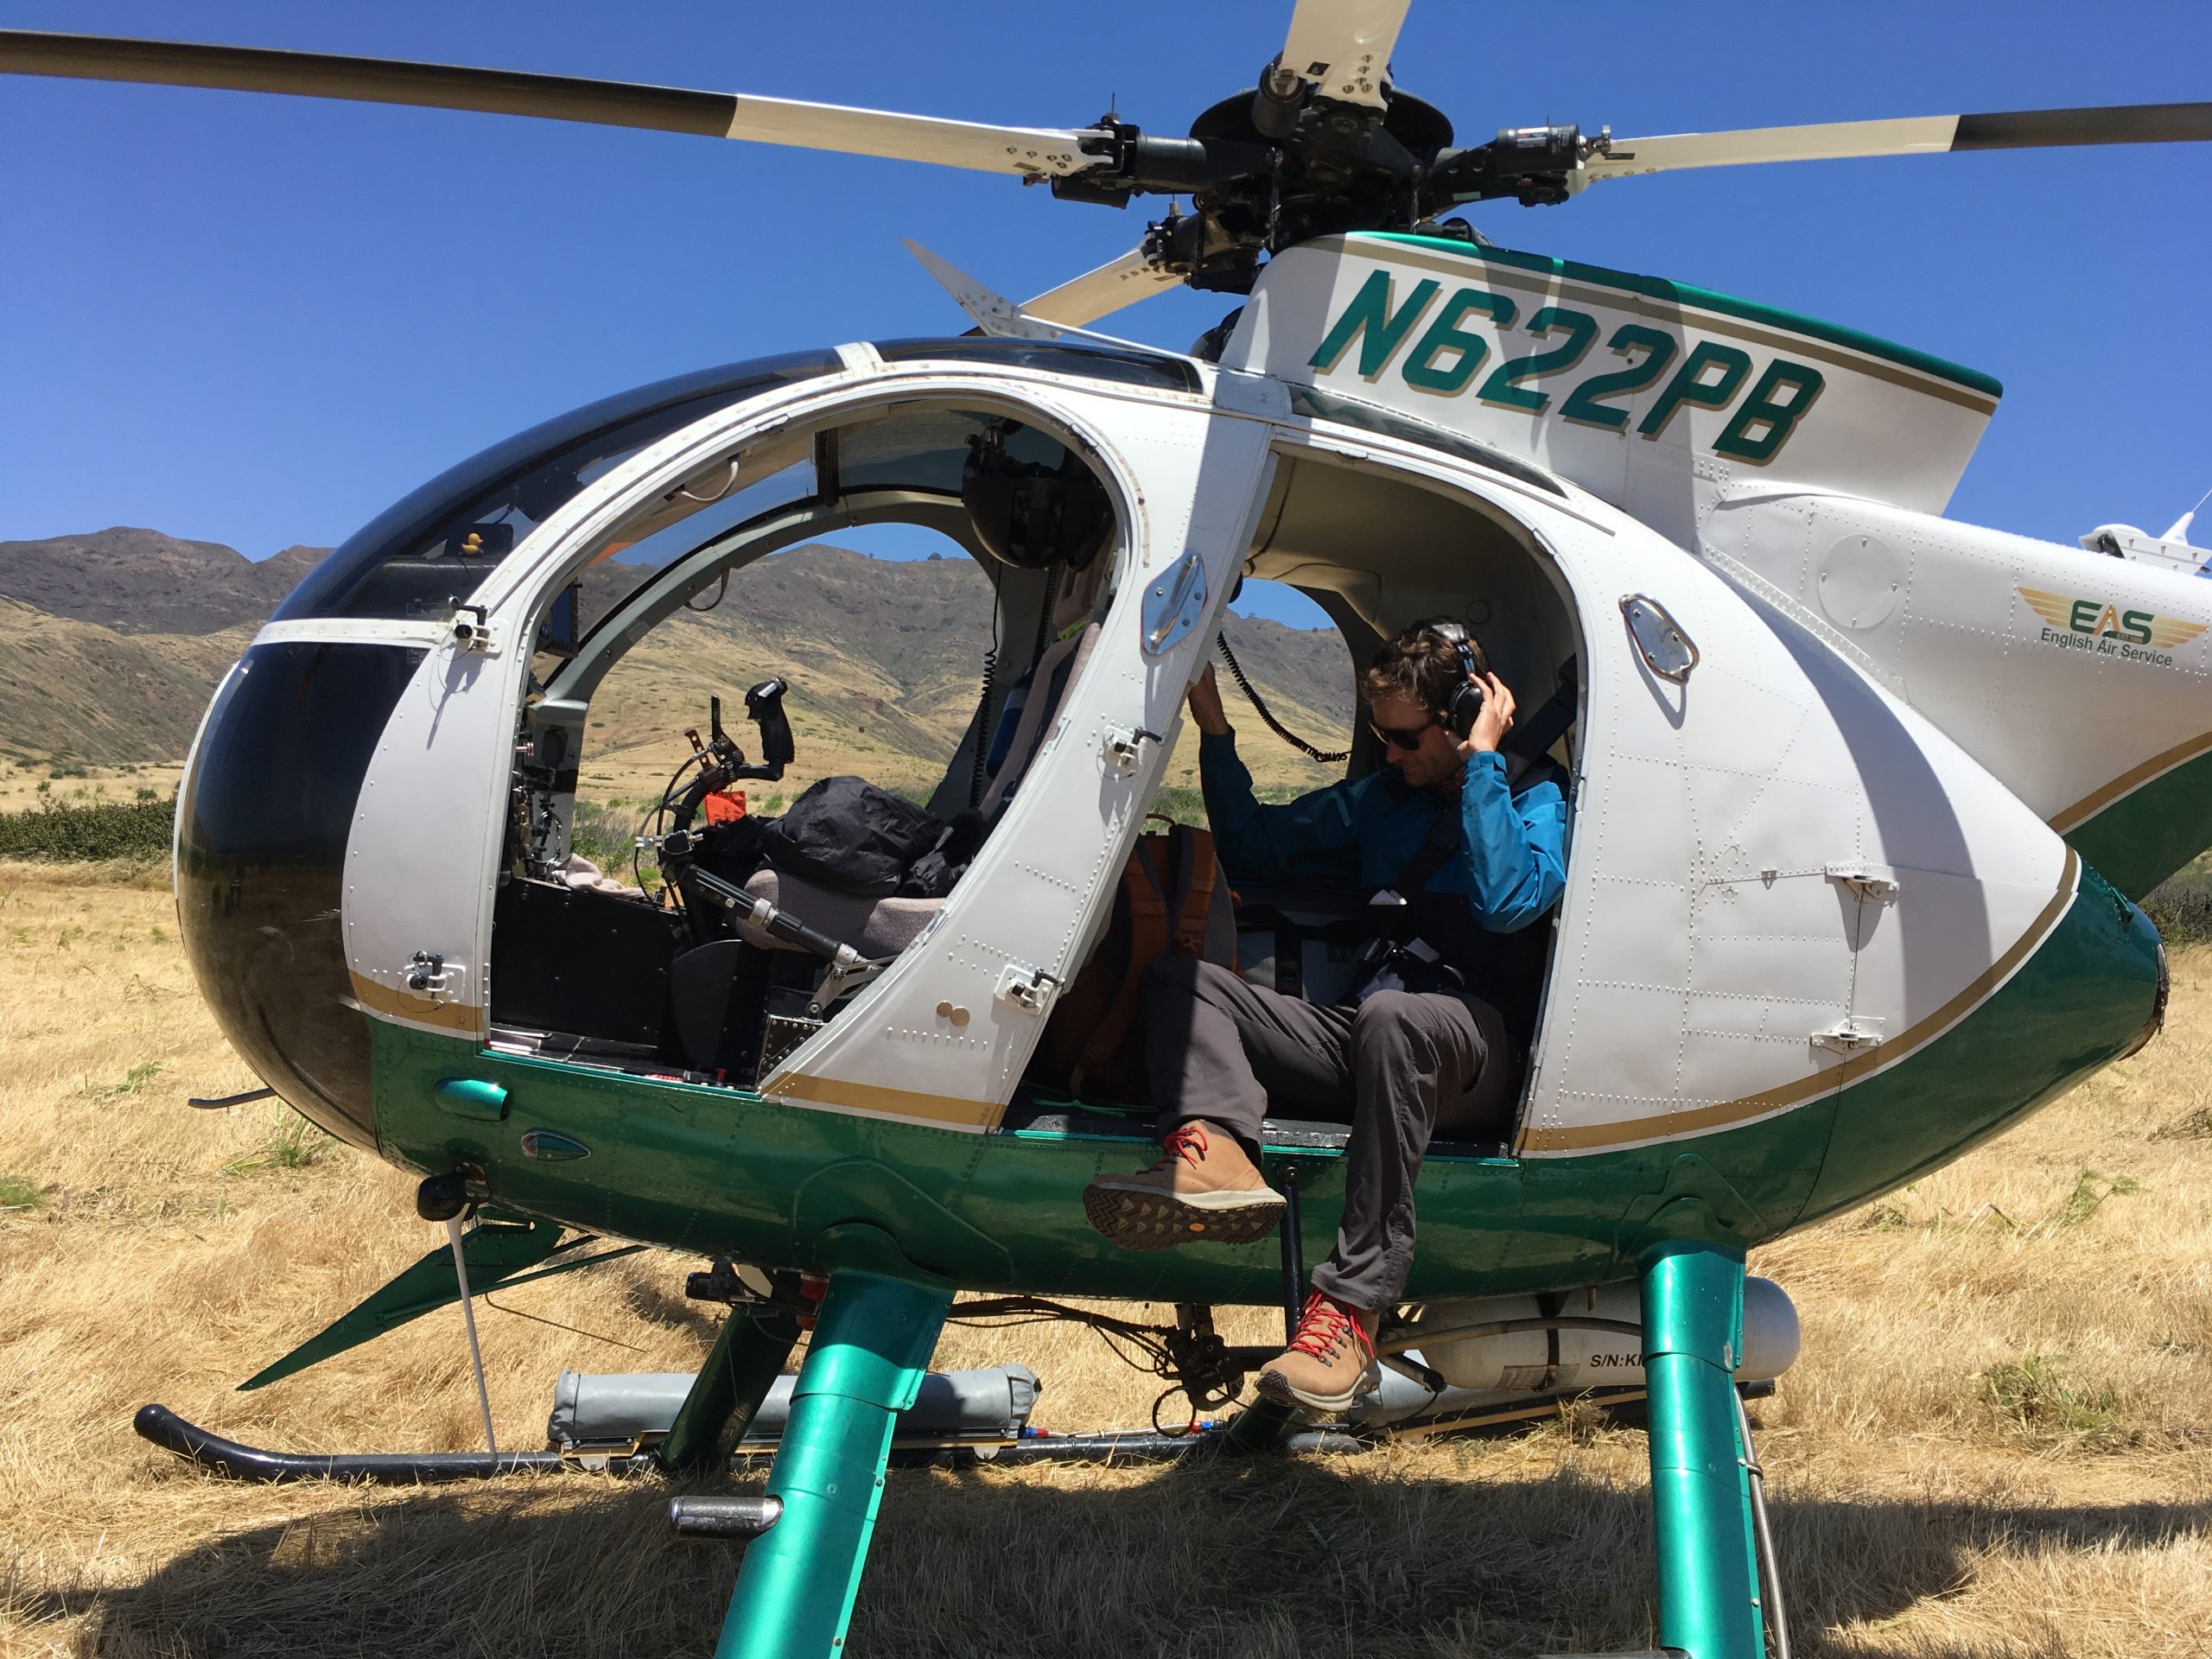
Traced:
[[[1252, 706], [1230, 684], [1230, 659], [1217, 650], [1217, 681], [1234, 734], [1237, 765], [1250, 776], [1250, 794], [1263, 812], [1292, 799], [1301, 799], [1301, 805], [1287, 807], [1290, 812], [1307, 810], [1316, 801], [1360, 790], [1363, 781], [1378, 781], [1376, 774], [1389, 768], [1389, 752], [1376, 739], [1365, 703], [1358, 703], [1358, 675], [1385, 639], [1444, 617], [1486, 648], [1493, 672], [1513, 690], [1520, 714], [1513, 737], [1500, 750], [1509, 787], [1555, 787], [1564, 816], [1573, 799], [1582, 712], [1575, 606], [1544, 549], [1511, 515], [1398, 469], [1338, 458], [1318, 447], [1283, 447], [1245, 560], [1245, 584], [1261, 593], [1261, 584], [1279, 584], [1310, 615], [1332, 624], [1325, 633], [1298, 635], [1265, 635], [1237, 615], [1225, 624], [1230, 655], [1245, 677], [1265, 672], [1274, 684], [1316, 688], [1303, 703], [1283, 697], [1281, 706], [1267, 708], [1263, 697], [1261, 706]], [[1243, 650], [1239, 635], [1250, 637]], [[1312, 664], [1285, 672], [1287, 664], [1270, 661], [1270, 650], [1312, 655]], [[1318, 688], [1338, 688], [1343, 701], [1332, 703]], [[1194, 748], [1188, 734], [1186, 743]], [[1164, 799], [1188, 790], [1199, 801], [1194, 812], [1170, 816], [1210, 823], [1201, 783], [1203, 765], [1194, 754], [1186, 759], [1179, 748]], [[1323, 814], [1316, 810], [1314, 816]], [[1360, 989], [1376, 947], [1402, 931], [1402, 907], [1389, 902], [1396, 898], [1391, 887], [1398, 869], [1378, 867], [1358, 847], [1336, 847], [1296, 869], [1281, 863], [1239, 867], [1237, 838], [1221, 841], [1210, 856], [1219, 860], [1221, 891], [1232, 914], [1228, 931], [1221, 918], [1183, 916], [1179, 907], [1194, 902], [1192, 885], [1179, 874], [1183, 867], [1166, 847], [1150, 856], [1166, 872], [1164, 880], [1152, 883], [1157, 900], [1144, 896], [1144, 883], [1130, 883], [1130, 894], [1086, 967], [1091, 995], [1071, 995], [1055, 1015], [1060, 1031], [1046, 1033], [1031, 1068], [1029, 1113], [1018, 1126], [1073, 1128], [1086, 1113], [1130, 1124], [1146, 1115], [1146, 1044], [1157, 1042], [1157, 1033], [1135, 1024], [1126, 1035], [1108, 1031], [1108, 1042], [1097, 1026], [1099, 1009], [1128, 1020], [1137, 1000], [1130, 995], [1130, 975], [1141, 973], [1144, 962], [1137, 958], [1146, 949], [1203, 953], [1232, 964], [1248, 982], [1267, 991], [1318, 1006], [1343, 1006]], [[1141, 920], [1130, 922], [1133, 907], [1148, 902], [1168, 911], [1166, 929], [1148, 933]], [[1502, 1155], [1511, 1141], [1535, 1071], [1555, 916], [1553, 902], [1528, 925], [1500, 931], [1495, 945], [1478, 949], [1467, 969], [1467, 989], [1491, 1002], [1513, 1035], [1515, 1097], [1511, 1121], [1498, 1121], [1495, 1139], [1469, 1144], [1462, 1152]], [[1139, 945], [1133, 951], [1133, 938], [1164, 938], [1164, 945]], [[1232, 953], [1223, 953], [1223, 940], [1232, 940]], [[1086, 1040], [1077, 1040], [1077, 1026], [1088, 1033]], [[1345, 1097], [1340, 1117], [1329, 1121], [1312, 1115], [1312, 1102], [1276, 1102], [1270, 1135], [1301, 1146], [1340, 1144], [1349, 1110], [1352, 1102]], [[1104, 1128], [1104, 1121], [1095, 1128]]]

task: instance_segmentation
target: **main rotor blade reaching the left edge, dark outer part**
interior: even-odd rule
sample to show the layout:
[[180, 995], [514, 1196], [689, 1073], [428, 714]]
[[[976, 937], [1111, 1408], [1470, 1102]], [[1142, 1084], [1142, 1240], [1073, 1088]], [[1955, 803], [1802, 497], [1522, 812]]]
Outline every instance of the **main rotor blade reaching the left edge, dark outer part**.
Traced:
[[533, 115], [549, 122], [593, 122], [653, 133], [750, 139], [805, 150], [843, 150], [900, 161], [1020, 177], [1066, 177], [1097, 166], [1084, 155], [1091, 131], [982, 126], [929, 115], [805, 104], [787, 97], [701, 93], [681, 86], [524, 75], [511, 69], [411, 64], [392, 58], [341, 58], [259, 46], [201, 46], [177, 40], [53, 35], [0, 29], [0, 73], [71, 80], [217, 86], [234, 93], [343, 97], [361, 104], [414, 104], [484, 115]]

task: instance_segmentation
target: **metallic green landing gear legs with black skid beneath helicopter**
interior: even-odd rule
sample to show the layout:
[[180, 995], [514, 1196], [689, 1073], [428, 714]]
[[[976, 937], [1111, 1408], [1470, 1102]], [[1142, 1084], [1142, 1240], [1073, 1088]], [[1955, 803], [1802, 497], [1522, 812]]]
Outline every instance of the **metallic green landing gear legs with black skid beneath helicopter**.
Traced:
[[[768, 1491], [670, 1500], [670, 1522], [681, 1537], [745, 1542], [717, 1659], [830, 1659], [843, 1648], [898, 1413], [914, 1407], [953, 1303], [949, 1283], [911, 1267], [874, 1228], [832, 1230], [823, 1237], [823, 1256], [827, 1290], [792, 1387]], [[739, 1321], [750, 1329], [730, 1329], [717, 1343], [708, 1374], [677, 1418], [681, 1433], [672, 1429], [653, 1451], [637, 1447], [591, 1460], [560, 1451], [283, 1453], [208, 1433], [159, 1405], [144, 1407], [135, 1427], [146, 1440], [232, 1480], [420, 1484], [553, 1469], [622, 1475], [728, 1469], [732, 1451], [743, 1455], [734, 1447], [741, 1427], [759, 1411], [781, 1354], [790, 1352], [785, 1327], [770, 1321], [761, 1329], [750, 1314], [732, 1310], [732, 1327]], [[1659, 1639], [1668, 1655], [1683, 1659], [1759, 1659], [1763, 1626], [1774, 1621], [1776, 1635], [1783, 1626], [1754, 1484], [1759, 1464], [1732, 1378], [1741, 1343], [1743, 1256], [1701, 1241], [1655, 1248], [1644, 1263], [1648, 1389], [1608, 1391], [1613, 1398], [1604, 1405], [1648, 1413]], [[1263, 1402], [1223, 1427], [1192, 1433], [1035, 1436], [998, 1442], [991, 1458], [1157, 1462], [1206, 1451], [1356, 1451], [1391, 1438], [1506, 1429], [1548, 1416], [1557, 1405], [1531, 1398], [1480, 1413], [1407, 1418], [1354, 1436], [1314, 1431], [1298, 1413]], [[947, 1447], [905, 1451], [933, 1455]], [[984, 1447], [964, 1451], [978, 1455]], [[1783, 1652], [1785, 1641], [1778, 1644]]]

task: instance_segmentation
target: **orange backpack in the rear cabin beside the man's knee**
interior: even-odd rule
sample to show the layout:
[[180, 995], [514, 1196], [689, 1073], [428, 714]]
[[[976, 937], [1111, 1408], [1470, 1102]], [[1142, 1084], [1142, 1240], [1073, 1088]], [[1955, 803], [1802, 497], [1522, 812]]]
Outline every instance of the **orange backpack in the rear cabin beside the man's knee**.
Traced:
[[1060, 995], [1040, 1044], [1040, 1073], [1068, 1093], [1144, 1099], [1139, 991], [1161, 956], [1237, 967], [1237, 920], [1210, 830], [1170, 823], [1137, 838], [1121, 867], [1106, 936]]

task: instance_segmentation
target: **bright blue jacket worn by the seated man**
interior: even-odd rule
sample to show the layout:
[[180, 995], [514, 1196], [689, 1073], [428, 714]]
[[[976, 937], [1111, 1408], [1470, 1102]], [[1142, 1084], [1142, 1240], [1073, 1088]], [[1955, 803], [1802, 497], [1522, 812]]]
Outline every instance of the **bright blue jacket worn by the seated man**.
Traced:
[[1458, 803], [1409, 790], [1396, 768], [1332, 783], [1283, 805], [1261, 805], [1237, 759], [1237, 734], [1199, 737], [1199, 785], [1214, 847], [1230, 876], [1296, 880], [1338, 876], [1394, 887], [1429, 825], [1460, 814], [1460, 849], [1427, 891], [1458, 894], [1493, 933], [1528, 927], [1566, 887], [1566, 799], [1559, 785], [1506, 787], [1500, 754], [1473, 754]]

